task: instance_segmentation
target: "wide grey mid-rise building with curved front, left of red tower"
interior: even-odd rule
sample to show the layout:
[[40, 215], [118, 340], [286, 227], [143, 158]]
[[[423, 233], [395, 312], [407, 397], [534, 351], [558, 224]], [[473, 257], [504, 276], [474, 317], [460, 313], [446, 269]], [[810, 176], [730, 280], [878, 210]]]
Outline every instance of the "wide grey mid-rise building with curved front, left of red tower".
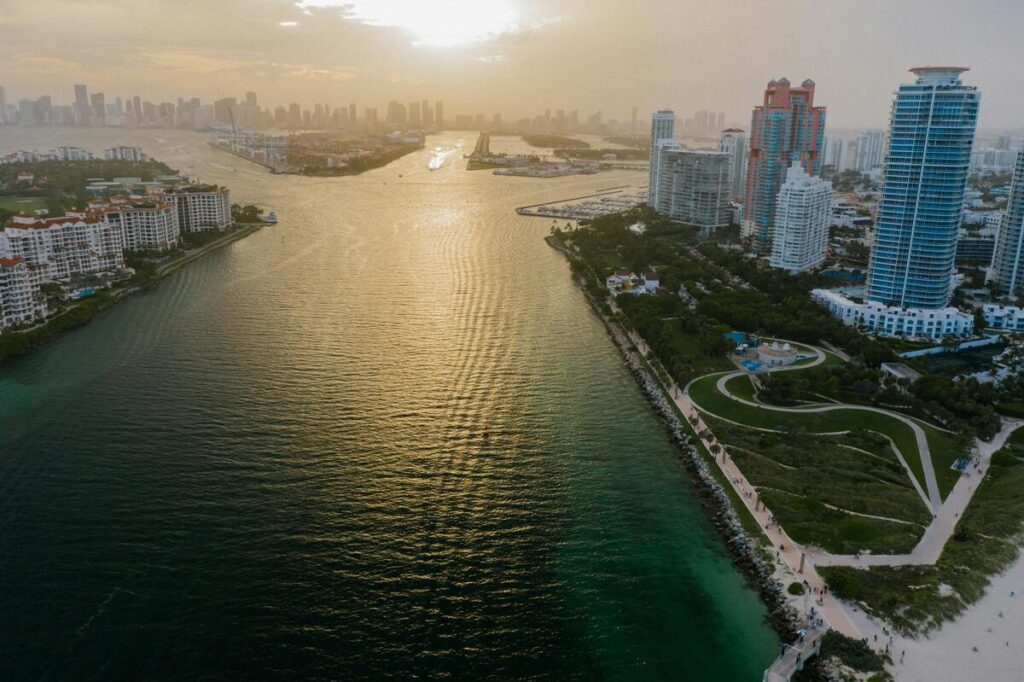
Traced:
[[732, 157], [663, 146], [658, 159], [658, 213], [699, 227], [724, 227], [732, 220], [729, 169]]

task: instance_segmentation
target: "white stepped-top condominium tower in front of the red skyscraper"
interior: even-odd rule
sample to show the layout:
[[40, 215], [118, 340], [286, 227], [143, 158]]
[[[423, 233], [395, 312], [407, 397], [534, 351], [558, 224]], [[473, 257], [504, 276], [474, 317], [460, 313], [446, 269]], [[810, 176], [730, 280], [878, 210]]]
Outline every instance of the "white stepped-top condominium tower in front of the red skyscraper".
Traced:
[[831, 195], [831, 182], [809, 175], [800, 162], [794, 162], [775, 200], [772, 267], [802, 272], [824, 261]]

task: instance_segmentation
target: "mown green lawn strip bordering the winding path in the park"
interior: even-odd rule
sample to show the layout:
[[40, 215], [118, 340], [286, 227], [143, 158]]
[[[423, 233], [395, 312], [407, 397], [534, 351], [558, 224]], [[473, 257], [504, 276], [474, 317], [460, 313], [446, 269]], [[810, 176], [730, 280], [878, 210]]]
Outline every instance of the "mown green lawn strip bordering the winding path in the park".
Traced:
[[[903, 422], [876, 412], [857, 410], [856, 408], [834, 410], [825, 413], [780, 413], [764, 408], [752, 408], [728, 398], [718, 392], [716, 383], [721, 375], [701, 377], [690, 386], [690, 397], [693, 401], [709, 411], [729, 421], [746, 426], [776, 431], [795, 431], [805, 433], [835, 433], [838, 431], [877, 431], [889, 436], [906, 458], [922, 487], [925, 485], [925, 474], [918, 452], [913, 430]], [[958, 474], [948, 469], [948, 463], [955, 459], [955, 451], [949, 437], [936, 429], [922, 424], [928, 435], [929, 447], [934, 449], [933, 463], [936, 469], [936, 479], [939, 492], [945, 497], [952, 488]], [[952, 458], [952, 459], [950, 459]]]

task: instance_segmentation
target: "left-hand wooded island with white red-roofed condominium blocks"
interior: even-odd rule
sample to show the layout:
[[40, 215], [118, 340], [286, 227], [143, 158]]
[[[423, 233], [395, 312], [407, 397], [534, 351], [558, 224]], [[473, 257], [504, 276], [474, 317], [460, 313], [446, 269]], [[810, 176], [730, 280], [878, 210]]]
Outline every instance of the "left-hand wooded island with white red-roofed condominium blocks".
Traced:
[[144, 158], [0, 164], [0, 363], [265, 224], [226, 187]]

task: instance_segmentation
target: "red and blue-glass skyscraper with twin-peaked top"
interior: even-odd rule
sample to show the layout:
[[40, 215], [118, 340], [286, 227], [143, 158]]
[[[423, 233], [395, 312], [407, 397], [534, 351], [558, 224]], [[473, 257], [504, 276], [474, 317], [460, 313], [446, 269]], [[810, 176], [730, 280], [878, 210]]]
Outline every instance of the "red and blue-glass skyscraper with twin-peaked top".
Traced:
[[793, 87], [785, 78], [770, 81], [764, 101], [754, 108], [751, 147], [746, 160], [746, 198], [743, 233], [757, 238], [758, 247], [771, 245], [775, 198], [786, 169], [799, 161], [808, 175], [821, 173], [825, 108], [814, 105], [814, 81]]

